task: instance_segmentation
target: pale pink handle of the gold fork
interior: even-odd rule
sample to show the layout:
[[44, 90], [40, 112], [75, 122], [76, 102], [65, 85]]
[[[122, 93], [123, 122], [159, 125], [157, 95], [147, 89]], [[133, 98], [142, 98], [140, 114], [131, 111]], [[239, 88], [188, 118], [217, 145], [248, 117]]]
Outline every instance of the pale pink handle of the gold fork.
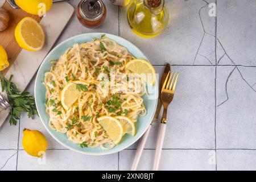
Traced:
[[154, 159], [154, 166], [153, 166], [154, 171], [158, 171], [165, 134], [166, 134], [166, 124], [160, 123], [159, 130], [158, 130], [158, 140], [156, 141], [156, 147], [155, 147], [155, 159]]

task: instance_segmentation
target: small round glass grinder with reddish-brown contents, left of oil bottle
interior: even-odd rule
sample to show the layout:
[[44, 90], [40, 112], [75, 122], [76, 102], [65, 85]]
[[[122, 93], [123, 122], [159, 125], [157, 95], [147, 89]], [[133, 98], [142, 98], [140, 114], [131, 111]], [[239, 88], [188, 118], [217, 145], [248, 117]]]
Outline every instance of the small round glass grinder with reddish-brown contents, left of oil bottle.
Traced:
[[106, 6], [101, 0], [81, 0], [77, 6], [76, 14], [83, 26], [96, 28], [106, 18]]

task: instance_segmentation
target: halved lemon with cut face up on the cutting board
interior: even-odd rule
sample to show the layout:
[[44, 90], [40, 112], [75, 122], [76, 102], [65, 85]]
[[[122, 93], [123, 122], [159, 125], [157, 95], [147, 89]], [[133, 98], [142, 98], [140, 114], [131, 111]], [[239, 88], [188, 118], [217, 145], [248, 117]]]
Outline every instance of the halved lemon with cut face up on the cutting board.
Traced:
[[27, 51], [40, 51], [44, 46], [44, 31], [35, 19], [25, 17], [15, 28], [15, 39]]

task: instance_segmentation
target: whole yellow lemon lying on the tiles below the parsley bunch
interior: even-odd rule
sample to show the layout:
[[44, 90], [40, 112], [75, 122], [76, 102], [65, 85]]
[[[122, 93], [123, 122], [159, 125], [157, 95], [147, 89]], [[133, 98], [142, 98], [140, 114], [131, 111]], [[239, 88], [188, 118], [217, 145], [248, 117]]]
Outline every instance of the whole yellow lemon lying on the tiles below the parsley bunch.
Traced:
[[47, 148], [47, 139], [38, 130], [23, 130], [22, 145], [27, 154], [42, 157]]

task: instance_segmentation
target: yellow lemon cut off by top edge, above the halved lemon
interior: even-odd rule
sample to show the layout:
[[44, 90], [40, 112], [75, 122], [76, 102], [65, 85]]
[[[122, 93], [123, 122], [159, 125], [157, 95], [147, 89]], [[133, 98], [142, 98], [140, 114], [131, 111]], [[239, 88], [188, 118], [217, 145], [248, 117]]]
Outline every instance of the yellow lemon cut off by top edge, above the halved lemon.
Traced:
[[15, 0], [16, 5], [29, 14], [42, 16], [52, 7], [52, 0]]

